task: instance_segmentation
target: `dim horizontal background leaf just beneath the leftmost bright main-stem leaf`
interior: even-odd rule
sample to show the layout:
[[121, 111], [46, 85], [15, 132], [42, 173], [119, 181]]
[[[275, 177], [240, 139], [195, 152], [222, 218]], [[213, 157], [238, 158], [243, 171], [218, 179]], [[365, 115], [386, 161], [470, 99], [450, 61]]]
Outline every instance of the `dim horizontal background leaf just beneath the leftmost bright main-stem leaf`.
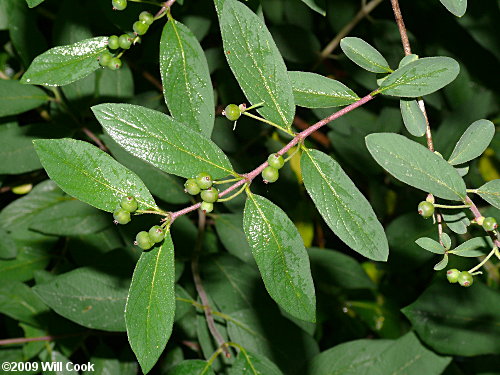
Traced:
[[57, 236], [78, 236], [99, 232], [112, 223], [102, 211], [80, 201], [64, 201], [41, 211], [30, 229]]

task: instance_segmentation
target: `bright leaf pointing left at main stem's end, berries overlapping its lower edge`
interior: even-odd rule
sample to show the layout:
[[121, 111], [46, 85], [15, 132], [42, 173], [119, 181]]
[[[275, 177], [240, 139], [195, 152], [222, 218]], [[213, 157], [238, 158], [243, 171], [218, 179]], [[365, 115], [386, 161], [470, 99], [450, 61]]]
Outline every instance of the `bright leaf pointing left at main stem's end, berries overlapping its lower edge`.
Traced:
[[139, 210], [156, 209], [139, 177], [97, 147], [74, 139], [37, 140], [34, 144], [49, 177], [69, 195], [108, 212], [127, 195], [137, 199]]

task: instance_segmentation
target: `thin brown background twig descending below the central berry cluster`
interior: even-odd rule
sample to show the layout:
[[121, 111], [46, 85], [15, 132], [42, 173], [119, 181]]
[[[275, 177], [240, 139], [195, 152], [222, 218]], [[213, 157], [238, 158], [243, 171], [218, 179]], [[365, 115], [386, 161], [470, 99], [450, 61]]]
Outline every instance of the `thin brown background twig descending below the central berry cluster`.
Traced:
[[198, 292], [201, 303], [203, 304], [203, 311], [205, 313], [205, 319], [207, 320], [208, 329], [217, 342], [217, 345], [224, 351], [226, 357], [230, 358], [231, 353], [226, 346], [226, 340], [224, 340], [220, 332], [217, 330], [217, 327], [215, 326], [214, 317], [210, 308], [210, 302], [208, 300], [207, 293], [205, 292], [205, 288], [203, 287], [203, 284], [201, 282], [198, 259], [201, 247], [203, 245], [203, 237], [205, 235], [206, 215], [201, 210], [199, 210], [198, 213], [198, 238], [196, 239], [194, 257], [193, 261], [191, 262], [191, 271], [193, 272], [194, 285], [196, 286], [196, 291]]

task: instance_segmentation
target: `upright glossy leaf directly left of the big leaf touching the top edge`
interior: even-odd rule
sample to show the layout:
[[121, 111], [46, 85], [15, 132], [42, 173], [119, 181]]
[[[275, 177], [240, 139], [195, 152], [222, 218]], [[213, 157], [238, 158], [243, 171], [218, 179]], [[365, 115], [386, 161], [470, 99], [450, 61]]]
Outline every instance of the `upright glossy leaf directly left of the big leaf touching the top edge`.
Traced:
[[210, 138], [215, 104], [207, 59], [191, 30], [172, 18], [161, 35], [160, 72], [170, 115]]

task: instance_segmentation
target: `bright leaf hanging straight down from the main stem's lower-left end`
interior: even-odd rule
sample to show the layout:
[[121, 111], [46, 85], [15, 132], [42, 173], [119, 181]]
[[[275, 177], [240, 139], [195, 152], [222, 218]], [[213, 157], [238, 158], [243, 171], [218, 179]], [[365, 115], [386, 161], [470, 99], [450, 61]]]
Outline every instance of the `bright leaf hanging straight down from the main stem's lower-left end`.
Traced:
[[125, 308], [130, 346], [146, 374], [160, 357], [175, 313], [174, 245], [170, 233], [137, 262]]

